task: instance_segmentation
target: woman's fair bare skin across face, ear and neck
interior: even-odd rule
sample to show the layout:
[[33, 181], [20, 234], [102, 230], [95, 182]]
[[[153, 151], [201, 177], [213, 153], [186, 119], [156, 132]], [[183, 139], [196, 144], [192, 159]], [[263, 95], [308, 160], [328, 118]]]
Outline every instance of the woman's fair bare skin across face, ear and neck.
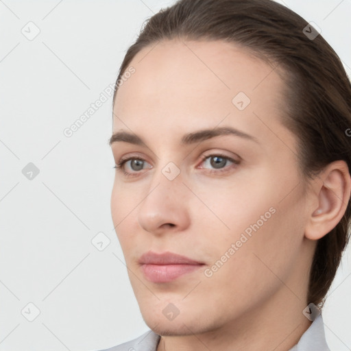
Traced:
[[[152, 49], [153, 48], [153, 49]], [[297, 140], [280, 122], [285, 85], [266, 62], [220, 41], [168, 40], [132, 60], [135, 73], [118, 90], [113, 132], [132, 132], [147, 145], [112, 143], [116, 170], [111, 213], [132, 288], [160, 350], [289, 350], [311, 325], [308, 274], [317, 239], [340, 221], [350, 174], [332, 162], [307, 183], [298, 169]], [[239, 92], [251, 103], [239, 110]], [[182, 145], [184, 134], [224, 126], [238, 136]], [[229, 160], [219, 173], [213, 158]], [[224, 159], [226, 160], [226, 159]], [[173, 162], [180, 174], [162, 169]], [[213, 171], [213, 173], [210, 173]], [[269, 208], [276, 212], [212, 276], [204, 274]], [[317, 209], [321, 213], [316, 213]], [[204, 263], [167, 283], [149, 282], [138, 258], [171, 251]], [[172, 303], [179, 315], [162, 310]]]

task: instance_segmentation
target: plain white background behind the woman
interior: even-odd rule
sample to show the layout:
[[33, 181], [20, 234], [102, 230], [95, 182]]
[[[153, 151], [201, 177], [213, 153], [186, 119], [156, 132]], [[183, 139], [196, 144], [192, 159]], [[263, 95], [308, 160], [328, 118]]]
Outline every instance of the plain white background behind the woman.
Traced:
[[[148, 329], [110, 217], [112, 98], [71, 138], [63, 130], [114, 84], [143, 21], [172, 3], [0, 1], [0, 351], [99, 350]], [[350, 75], [351, 1], [285, 5], [322, 29]], [[29, 21], [34, 40], [21, 33]], [[101, 252], [98, 232], [110, 239]], [[324, 309], [333, 351], [351, 350], [350, 256]], [[33, 322], [21, 314], [29, 302]]]

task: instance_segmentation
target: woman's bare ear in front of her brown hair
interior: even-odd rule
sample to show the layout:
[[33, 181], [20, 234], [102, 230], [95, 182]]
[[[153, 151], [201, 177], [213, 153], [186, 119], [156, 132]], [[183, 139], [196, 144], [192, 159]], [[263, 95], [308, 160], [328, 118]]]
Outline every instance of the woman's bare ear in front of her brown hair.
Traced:
[[[318, 240], [337, 226], [343, 217], [351, 196], [351, 176], [343, 160], [331, 162], [313, 184], [305, 237]], [[315, 206], [317, 202], [317, 206]]]

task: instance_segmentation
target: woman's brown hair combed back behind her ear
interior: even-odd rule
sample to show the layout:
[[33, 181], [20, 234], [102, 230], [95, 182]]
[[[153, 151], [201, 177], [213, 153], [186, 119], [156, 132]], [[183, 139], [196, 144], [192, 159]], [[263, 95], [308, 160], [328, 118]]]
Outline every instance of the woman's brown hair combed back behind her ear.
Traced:
[[[271, 0], [180, 0], [146, 21], [125, 55], [117, 82], [138, 51], [160, 40], [225, 40], [240, 45], [282, 68], [287, 88], [282, 122], [298, 138], [299, 165], [306, 180], [335, 160], [344, 160], [350, 172], [350, 80], [337, 53], [320, 34], [308, 36], [315, 32], [306, 26], [301, 16]], [[349, 240], [350, 222], [349, 199], [341, 221], [317, 241], [308, 303], [323, 307]]]

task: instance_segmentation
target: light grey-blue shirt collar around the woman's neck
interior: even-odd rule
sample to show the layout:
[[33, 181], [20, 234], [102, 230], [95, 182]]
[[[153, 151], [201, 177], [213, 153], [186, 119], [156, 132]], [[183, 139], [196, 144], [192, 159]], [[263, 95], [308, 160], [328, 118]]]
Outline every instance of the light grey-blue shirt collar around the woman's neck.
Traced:
[[[149, 330], [132, 341], [100, 351], [156, 351], [158, 341], [160, 341], [160, 335]], [[324, 335], [322, 314], [312, 322], [300, 337], [299, 342], [289, 351], [330, 351]]]

